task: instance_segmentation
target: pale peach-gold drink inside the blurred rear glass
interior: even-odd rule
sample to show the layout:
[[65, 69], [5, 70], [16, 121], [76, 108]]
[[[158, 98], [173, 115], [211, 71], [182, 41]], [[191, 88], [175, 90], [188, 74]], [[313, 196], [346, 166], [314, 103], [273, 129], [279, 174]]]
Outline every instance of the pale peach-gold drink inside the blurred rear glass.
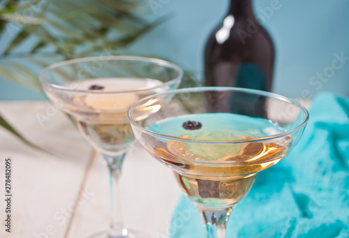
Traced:
[[[140, 98], [155, 93], [123, 91], [149, 89], [161, 84], [163, 82], [145, 78], [101, 78], [71, 82], [65, 86], [86, 92], [74, 93], [64, 110], [73, 115], [82, 135], [96, 149], [108, 154], [118, 154], [125, 151], [134, 140], [126, 115], [128, 107]], [[102, 86], [103, 89], [89, 90], [92, 85]]]

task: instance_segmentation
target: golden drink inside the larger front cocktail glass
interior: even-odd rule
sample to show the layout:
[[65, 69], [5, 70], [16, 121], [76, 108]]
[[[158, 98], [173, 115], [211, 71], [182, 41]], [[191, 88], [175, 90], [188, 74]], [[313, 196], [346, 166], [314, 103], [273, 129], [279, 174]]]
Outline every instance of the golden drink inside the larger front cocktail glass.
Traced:
[[[233, 115], [232, 119], [236, 117], [244, 116]], [[205, 122], [202, 125], [202, 129], [189, 131], [180, 137], [215, 141], [246, 140], [246, 142], [202, 144], [174, 140], [165, 142], [153, 137], [150, 143], [155, 147], [149, 152], [174, 170], [174, 175], [188, 198], [202, 207], [211, 209], [231, 207], [242, 200], [253, 185], [256, 174], [278, 163], [287, 154], [292, 142], [290, 136], [264, 142], [251, 142], [250, 136], [253, 131], [252, 133], [240, 131], [242, 134], [239, 134], [239, 131], [230, 130], [224, 125], [221, 125], [223, 130], [219, 126], [205, 128]], [[166, 125], [157, 126], [166, 131]], [[265, 121], [262, 124], [257, 122], [255, 126], [264, 127]], [[172, 127], [172, 130], [176, 130], [175, 123], [172, 123]], [[260, 136], [258, 133], [255, 134]], [[149, 139], [151, 140], [147, 138]]]

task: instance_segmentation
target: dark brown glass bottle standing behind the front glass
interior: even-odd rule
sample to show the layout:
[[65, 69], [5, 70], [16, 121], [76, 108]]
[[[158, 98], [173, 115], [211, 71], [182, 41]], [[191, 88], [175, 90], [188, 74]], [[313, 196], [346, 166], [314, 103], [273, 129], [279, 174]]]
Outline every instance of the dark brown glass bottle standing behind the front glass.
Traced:
[[[227, 16], [207, 40], [205, 86], [271, 91], [273, 70], [274, 45], [255, 19], [251, 0], [231, 0]], [[254, 114], [242, 109], [239, 113]]]

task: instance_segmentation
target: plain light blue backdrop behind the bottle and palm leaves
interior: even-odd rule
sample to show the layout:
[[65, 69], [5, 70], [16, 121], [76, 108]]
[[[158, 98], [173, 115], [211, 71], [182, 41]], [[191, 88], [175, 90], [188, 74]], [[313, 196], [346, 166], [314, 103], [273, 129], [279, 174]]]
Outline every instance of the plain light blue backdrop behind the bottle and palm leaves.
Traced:
[[[158, 3], [158, 8], [151, 8], [151, 1]], [[151, 1], [144, 1], [149, 18], [167, 13], [173, 17], [131, 45], [128, 52], [168, 59], [202, 79], [207, 36], [225, 16], [228, 1]], [[349, 96], [349, 1], [258, 0], [253, 4], [276, 47], [275, 93], [308, 98], [318, 91], [333, 91]], [[273, 4], [278, 9], [270, 11]], [[336, 55], [348, 59], [341, 64], [336, 61], [338, 69], [333, 69]], [[321, 81], [318, 73], [324, 73], [325, 80]], [[36, 91], [0, 79], [0, 100], [43, 98]]]

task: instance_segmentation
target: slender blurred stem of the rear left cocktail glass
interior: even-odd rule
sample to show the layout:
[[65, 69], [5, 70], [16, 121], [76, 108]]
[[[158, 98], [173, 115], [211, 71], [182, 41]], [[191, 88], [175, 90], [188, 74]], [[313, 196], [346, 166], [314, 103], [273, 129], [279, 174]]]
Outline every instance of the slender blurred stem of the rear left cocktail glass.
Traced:
[[109, 238], [127, 237], [127, 229], [121, 213], [121, 201], [119, 193], [119, 177], [121, 175], [121, 165], [124, 161], [126, 152], [117, 156], [103, 154], [109, 170], [110, 177], [110, 228], [108, 230]]

